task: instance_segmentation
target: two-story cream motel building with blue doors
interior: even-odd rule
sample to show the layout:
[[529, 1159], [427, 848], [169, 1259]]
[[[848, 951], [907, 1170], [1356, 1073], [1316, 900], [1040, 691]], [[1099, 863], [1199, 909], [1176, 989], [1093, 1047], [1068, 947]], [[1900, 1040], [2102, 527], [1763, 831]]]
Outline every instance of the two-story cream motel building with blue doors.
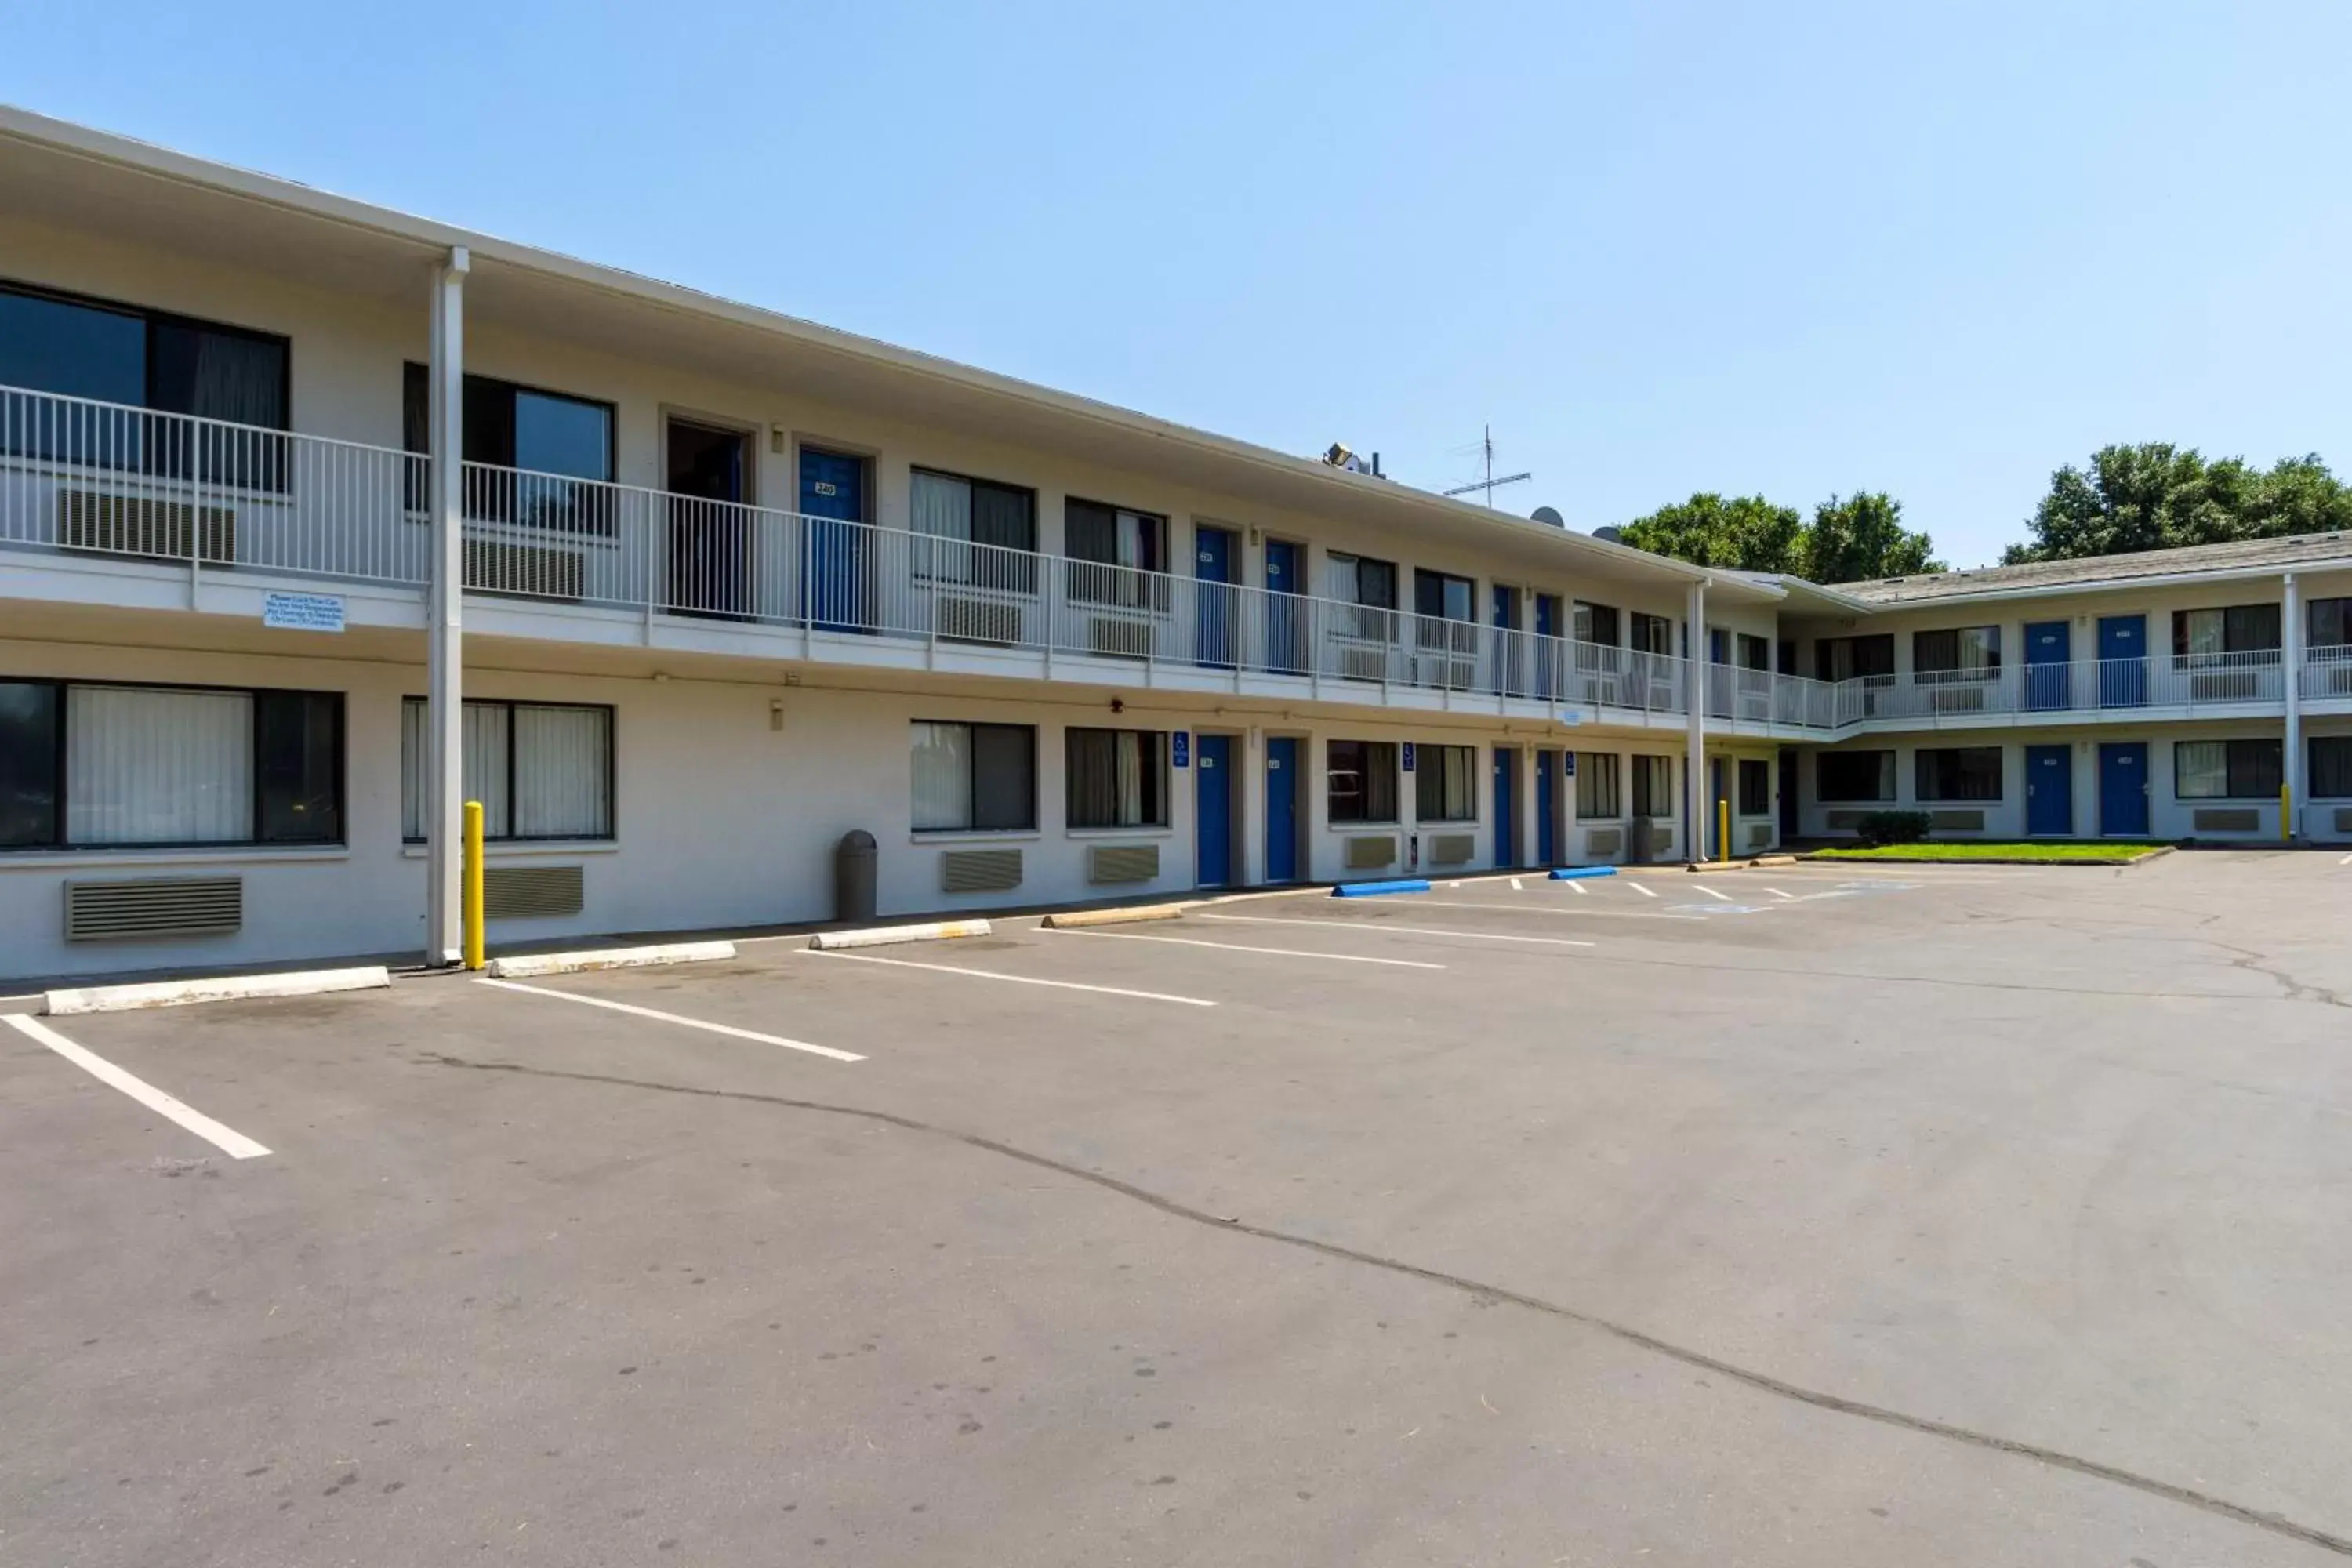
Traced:
[[459, 799], [494, 940], [2352, 837], [2347, 604], [1703, 571], [0, 110], [0, 976], [447, 954]]

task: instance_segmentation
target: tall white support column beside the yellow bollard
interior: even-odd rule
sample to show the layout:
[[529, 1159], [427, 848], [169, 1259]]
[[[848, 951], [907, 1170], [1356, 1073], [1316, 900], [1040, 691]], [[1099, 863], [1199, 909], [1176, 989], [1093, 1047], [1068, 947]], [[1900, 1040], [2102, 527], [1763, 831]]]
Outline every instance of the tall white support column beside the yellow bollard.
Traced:
[[466, 247], [433, 273], [433, 590], [426, 623], [426, 964], [463, 957]]

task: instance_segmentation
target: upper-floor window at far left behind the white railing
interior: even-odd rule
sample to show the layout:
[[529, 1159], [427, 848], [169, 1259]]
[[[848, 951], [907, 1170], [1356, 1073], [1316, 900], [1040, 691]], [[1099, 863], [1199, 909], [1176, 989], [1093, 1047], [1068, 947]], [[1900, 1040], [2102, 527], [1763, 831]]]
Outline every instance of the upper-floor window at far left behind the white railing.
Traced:
[[[160, 310], [0, 284], [0, 386], [153, 414], [287, 428], [287, 341]], [[0, 451], [247, 489], [287, 487], [287, 444], [252, 430], [61, 404], [21, 409]]]

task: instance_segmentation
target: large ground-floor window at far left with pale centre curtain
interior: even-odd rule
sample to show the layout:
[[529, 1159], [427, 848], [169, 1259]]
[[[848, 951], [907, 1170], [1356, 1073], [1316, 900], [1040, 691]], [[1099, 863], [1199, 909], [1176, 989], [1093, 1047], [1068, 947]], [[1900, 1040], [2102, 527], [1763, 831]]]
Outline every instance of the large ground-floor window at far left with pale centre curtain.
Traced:
[[339, 693], [0, 682], [0, 849], [341, 842]]

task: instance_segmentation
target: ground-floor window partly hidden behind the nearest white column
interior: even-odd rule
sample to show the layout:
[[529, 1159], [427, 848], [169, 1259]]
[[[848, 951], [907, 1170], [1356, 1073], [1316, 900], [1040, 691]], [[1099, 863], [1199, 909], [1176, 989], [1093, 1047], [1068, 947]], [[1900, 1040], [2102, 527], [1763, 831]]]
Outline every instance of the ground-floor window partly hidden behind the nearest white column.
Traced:
[[[428, 705], [400, 705], [400, 832], [416, 844], [433, 809]], [[612, 708], [475, 703], [463, 710], [459, 785], [482, 802], [485, 839], [612, 837]]]

